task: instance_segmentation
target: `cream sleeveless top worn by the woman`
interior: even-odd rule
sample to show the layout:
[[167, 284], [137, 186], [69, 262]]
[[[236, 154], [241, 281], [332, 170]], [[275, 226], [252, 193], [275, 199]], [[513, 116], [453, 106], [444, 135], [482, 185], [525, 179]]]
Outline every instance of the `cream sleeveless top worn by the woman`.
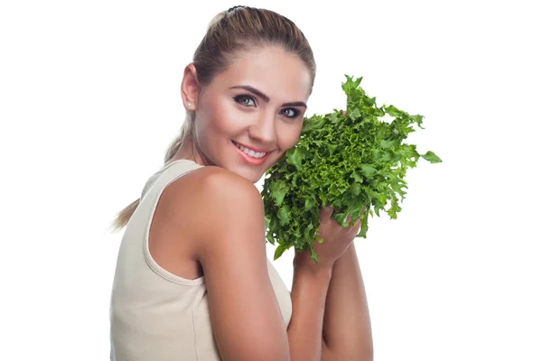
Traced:
[[[165, 187], [201, 167], [190, 160], [173, 161], [145, 184], [118, 250], [109, 308], [111, 360], [220, 360], [205, 276], [189, 280], [169, 273], [148, 248], [154, 210]], [[268, 258], [267, 269], [287, 328], [292, 317], [290, 292]]]

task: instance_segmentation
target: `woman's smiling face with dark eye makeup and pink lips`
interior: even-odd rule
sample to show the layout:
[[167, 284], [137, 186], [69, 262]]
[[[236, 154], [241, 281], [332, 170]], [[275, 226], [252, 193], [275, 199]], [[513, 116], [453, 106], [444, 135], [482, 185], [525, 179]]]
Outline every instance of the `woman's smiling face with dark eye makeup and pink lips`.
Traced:
[[[276, 48], [238, 54], [199, 97], [182, 81], [183, 97], [197, 97], [195, 104], [189, 100], [196, 111], [194, 155], [189, 158], [196, 162], [255, 183], [297, 143], [311, 76], [296, 55]], [[257, 153], [246, 154], [236, 143]]]

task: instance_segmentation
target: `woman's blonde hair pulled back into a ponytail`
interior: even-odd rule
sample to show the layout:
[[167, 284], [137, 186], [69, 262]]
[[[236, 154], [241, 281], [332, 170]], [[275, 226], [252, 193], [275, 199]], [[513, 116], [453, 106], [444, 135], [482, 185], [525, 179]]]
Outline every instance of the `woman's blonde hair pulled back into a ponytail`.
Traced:
[[[283, 15], [248, 6], [234, 6], [228, 11], [220, 12], [210, 21], [207, 33], [193, 56], [200, 87], [205, 88], [217, 74], [228, 69], [238, 51], [266, 46], [276, 46], [298, 55], [310, 71], [312, 92], [316, 63], [304, 33]], [[195, 112], [187, 110], [179, 134], [165, 153], [164, 163], [173, 158], [185, 139], [192, 138], [195, 120]], [[120, 230], [126, 226], [139, 205], [139, 200], [135, 199], [118, 212], [117, 218], [112, 223], [113, 230]]]

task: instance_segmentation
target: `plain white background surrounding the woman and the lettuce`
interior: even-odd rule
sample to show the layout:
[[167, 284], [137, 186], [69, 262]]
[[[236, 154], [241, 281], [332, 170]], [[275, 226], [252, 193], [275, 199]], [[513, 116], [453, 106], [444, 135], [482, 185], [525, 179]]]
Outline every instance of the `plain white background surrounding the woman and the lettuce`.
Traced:
[[[344, 74], [362, 76], [378, 105], [425, 116], [409, 143], [444, 161], [420, 159], [399, 218], [355, 241], [378, 361], [542, 360], [535, 3], [245, 4], [311, 42], [307, 115], [342, 108]], [[162, 165], [182, 69], [233, 5], [0, 5], [0, 359], [107, 359], [122, 236], [107, 227]], [[275, 263], [288, 287], [292, 252]]]

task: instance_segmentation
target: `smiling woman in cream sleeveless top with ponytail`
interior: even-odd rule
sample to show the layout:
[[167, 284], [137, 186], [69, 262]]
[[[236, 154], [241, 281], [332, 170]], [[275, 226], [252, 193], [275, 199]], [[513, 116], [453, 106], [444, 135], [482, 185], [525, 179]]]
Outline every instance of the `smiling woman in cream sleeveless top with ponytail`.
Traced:
[[111, 359], [372, 357], [350, 246], [359, 222], [342, 228], [322, 208], [319, 263], [295, 252], [291, 295], [266, 257], [254, 183], [297, 142], [314, 77], [313, 51], [284, 16], [235, 6], [211, 21], [184, 69], [182, 130], [141, 199], [116, 219], [126, 233]]

